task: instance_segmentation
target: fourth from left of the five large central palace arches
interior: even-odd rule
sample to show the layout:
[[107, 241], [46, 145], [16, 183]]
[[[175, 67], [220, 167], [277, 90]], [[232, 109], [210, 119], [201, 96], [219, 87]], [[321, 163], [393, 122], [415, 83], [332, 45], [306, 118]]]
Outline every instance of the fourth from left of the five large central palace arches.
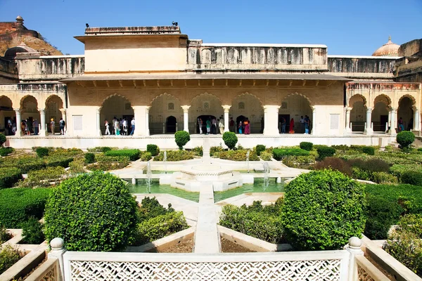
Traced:
[[[261, 101], [250, 93], [243, 93], [231, 100], [231, 107], [229, 111], [229, 121], [233, 118], [236, 122], [234, 128], [229, 128], [231, 131], [235, 130], [238, 133], [238, 124], [248, 118], [250, 122], [250, 133], [262, 133], [261, 120], [264, 118], [264, 109]], [[239, 119], [239, 117], [241, 117]]]

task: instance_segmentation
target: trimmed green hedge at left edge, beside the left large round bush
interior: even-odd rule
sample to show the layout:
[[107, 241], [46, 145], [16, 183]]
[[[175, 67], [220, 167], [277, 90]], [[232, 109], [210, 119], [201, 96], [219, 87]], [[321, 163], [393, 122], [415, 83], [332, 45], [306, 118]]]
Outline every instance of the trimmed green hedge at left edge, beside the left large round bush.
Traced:
[[20, 228], [30, 216], [40, 219], [50, 188], [7, 188], [0, 190], [0, 221], [6, 228]]

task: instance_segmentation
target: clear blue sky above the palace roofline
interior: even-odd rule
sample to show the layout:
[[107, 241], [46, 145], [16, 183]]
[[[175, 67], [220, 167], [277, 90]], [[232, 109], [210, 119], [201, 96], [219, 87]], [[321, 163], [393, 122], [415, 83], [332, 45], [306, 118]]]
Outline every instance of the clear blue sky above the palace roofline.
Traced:
[[84, 53], [73, 37], [84, 34], [86, 22], [126, 27], [174, 20], [205, 43], [326, 44], [331, 55], [371, 55], [389, 35], [396, 44], [422, 38], [422, 0], [0, 0], [0, 21], [17, 15], [72, 55]]

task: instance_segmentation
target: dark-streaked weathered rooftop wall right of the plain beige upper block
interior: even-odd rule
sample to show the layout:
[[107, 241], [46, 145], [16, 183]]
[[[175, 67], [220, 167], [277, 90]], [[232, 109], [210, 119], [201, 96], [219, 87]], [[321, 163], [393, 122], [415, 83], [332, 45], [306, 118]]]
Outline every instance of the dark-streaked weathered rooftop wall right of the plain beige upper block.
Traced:
[[324, 45], [235, 46], [190, 41], [188, 69], [326, 71], [326, 55]]

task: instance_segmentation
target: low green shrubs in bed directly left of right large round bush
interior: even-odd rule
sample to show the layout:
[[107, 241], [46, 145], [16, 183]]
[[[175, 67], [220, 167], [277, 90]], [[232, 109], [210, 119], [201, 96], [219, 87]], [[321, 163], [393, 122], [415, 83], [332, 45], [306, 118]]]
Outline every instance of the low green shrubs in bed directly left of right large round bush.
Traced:
[[281, 226], [282, 206], [282, 197], [265, 207], [260, 201], [254, 201], [250, 207], [227, 204], [222, 209], [219, 224], [270, 243], [285, 242]]

